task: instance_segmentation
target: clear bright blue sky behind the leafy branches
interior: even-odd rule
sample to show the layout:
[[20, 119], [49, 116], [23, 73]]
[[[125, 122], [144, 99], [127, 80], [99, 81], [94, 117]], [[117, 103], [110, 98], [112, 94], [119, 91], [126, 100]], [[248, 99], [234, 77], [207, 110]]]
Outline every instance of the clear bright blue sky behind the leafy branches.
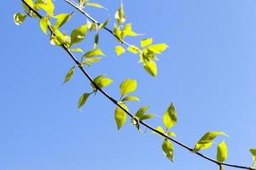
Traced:
[[[98, 0], [108, 11], [90, 8], [98, 20], [112, 17], [119, 0]], [[157, 78], [148, 76], [137, 56], [116, 57], [117, 42], [101, 32], [100, 46], [108, 58], [91, 67], [93, 77], [108, 74], [107, 88], [118, 97], [119, 82], [135, 78], [141, 102], [131, 111], [150, 105], [160, 116], [171, 102], [177, 108], [177, 139], [193, 147], [207, 131], [230, 135], [227, 162], [250, 166], [249, 148], [256, 147], [256, 1], [254, 0], [123, 0], [127, 21], [134, 30], [166, 42], [159, 56]], [[69, 13], [55, 0], [56, 14]], [[3, 170], [158, 170], [217, 169], [216, 165], [175, 146], [175, 163], [161, 151], [162, 140], [148, 132], [137, 133], [128, 123], [116, 130], [114, 105], [101, 94], [77, 110], [79, 95], [89, 91], [88, 81], [76, 71], [61, 85], [73, 61], [61, 48], [49, 44], [38, 26], [28, 19], [15, 26], [13, 14], [22, 11], [19, 1], [5, 1], [0, 11], [0, 169]], [[80, 26], [75, 13], [64, 30]], [[69, 31], [68, 31], [69, 32]], [[141, 38], [128, 38], [137, 44]], [[91, 38], [89, 36], [89, 38]], [[83, 42], [84, 50], [89, 49]], [[154, 127], [160, 118], [150, 121]], [[222, 138], [218, 138], [220, 141]], [[216, 144], [203, 151], [215, 157]], [[230, 168], [226, 168], [230, 169]]]

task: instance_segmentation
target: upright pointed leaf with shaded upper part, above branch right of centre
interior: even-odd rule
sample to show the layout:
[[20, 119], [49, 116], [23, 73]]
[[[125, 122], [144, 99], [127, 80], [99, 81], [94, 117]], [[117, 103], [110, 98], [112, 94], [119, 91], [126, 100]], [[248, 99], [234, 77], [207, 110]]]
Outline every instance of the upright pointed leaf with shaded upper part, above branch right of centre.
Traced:
[[171, 104], [163, 116], [163, 122], [167, 129], [173, 127], [177, 122], [177, 113], [174, 105]]

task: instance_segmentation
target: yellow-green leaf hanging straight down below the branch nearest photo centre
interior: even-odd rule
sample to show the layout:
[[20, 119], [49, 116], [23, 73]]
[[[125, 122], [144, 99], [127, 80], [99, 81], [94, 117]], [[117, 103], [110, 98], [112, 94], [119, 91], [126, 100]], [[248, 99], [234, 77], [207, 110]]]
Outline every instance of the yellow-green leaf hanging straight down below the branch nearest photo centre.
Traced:
[[[120, 104], [126, 111], [128, 111], [128, 107], [125, 104]], [[126, 113], [121, 108], [117, 107], [114, 111], [114, 119], [118, 129], [123, 127], [126, 122]]]

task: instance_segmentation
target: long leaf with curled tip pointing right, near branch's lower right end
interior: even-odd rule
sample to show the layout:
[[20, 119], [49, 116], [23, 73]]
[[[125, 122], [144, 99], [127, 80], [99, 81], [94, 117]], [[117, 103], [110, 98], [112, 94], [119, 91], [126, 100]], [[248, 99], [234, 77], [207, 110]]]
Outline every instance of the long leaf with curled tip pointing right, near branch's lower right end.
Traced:
[[215, 139], [218, 135], [228, 136], [226, 133], [223, 132], [208, 132], [201, 137], [201, 139], [195, 144], [194, 152], [198, 150], [205, 150], [212, 145], [212, 140]]

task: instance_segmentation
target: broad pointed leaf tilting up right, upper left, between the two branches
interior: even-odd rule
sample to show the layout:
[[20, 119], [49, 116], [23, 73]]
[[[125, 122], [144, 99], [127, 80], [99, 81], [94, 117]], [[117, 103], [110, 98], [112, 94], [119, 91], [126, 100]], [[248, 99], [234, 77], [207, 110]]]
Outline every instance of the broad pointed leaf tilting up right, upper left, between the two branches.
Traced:
[[87, 24], [84, 26], [79, 26], [78, 28], [74, 29], [71, 33], [70, 46], [72, 46], [75, 43], [83, 41], [86, 35], [86, 32], [87, 32]]

